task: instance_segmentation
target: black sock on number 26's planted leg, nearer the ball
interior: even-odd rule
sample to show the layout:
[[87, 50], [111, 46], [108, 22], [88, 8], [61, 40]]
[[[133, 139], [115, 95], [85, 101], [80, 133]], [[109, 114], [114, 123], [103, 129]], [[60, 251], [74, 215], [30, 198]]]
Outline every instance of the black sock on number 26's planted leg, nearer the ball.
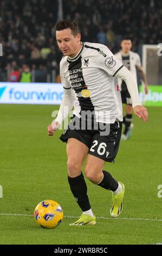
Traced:
[[75, 200], [82, 209], [82, 211], [90, 210], [91, 207], [87, 196], [87, 185], [83, 174], [81, 173], [75, 178], [71, 178], [68, 176], [68, 181], [70, 185], [70, 190], [72, 191], [73, 196], [75, 197]]

